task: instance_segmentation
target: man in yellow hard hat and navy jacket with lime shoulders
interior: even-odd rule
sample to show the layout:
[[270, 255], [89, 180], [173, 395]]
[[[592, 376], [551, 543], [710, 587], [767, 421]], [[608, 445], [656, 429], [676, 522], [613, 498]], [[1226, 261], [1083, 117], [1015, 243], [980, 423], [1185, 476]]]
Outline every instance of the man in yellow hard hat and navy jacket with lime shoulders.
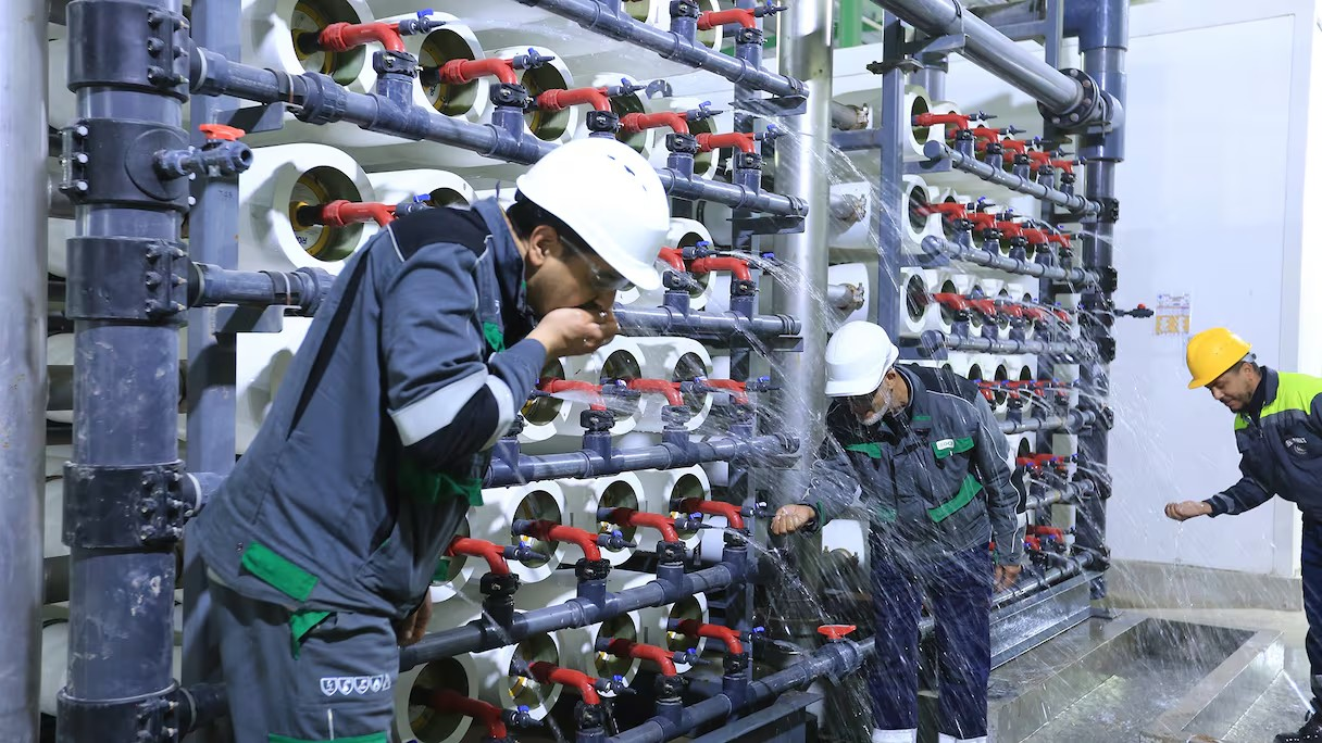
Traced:
[[1248, 342], [1212, 328], [1188, 341], [1188, 389], [1207, 387], [1235, 414], [1240, 477], [1206, 501], [1166, 505], [1166, 516], [1244, 513], [1272, 496], [1293, 501], [1303, 513], [1305, 649], [1313, 680], [1313, 714], [1297, 732], [1276, 743], [1322, 742], [1322, 378], [1259, 366]]

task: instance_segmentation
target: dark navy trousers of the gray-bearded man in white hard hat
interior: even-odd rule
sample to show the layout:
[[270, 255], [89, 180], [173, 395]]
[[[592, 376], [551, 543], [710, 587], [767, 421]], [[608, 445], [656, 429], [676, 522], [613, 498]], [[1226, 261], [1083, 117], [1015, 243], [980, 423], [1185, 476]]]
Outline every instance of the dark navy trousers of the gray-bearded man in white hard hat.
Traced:
[[[874, 542], [875, 543], [875, 542]], [[978, 739], [988, 726], [992, 670], [992, 555], [977, 547], [912, 565], [873, 553], [876, 658], [869, 670], [874, 727], [917, 727], [919, 617], [936, 621], [940, 732]]]

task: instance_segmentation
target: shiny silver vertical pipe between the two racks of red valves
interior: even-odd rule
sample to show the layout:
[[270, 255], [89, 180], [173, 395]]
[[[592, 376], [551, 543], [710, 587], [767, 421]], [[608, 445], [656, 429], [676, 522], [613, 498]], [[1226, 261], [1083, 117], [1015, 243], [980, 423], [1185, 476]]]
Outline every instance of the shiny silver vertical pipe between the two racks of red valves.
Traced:
[[[802, 352], [784, 354], [780, 364], [779, 414], [785, 431], [797, 431], [798, 457], [785, 485], [776, 489], [769, 504], [776, 509], [787, 502], [797, 502], [804, 492], [796, 477], [805, 477], [817, 456], [825, 435], [826, 375], [822, 358], [826, 352], [826, 231], [830, 221], [829, 136], [832, 104], [832, 3], [792, 3], [780, 15], [779, 69], [795, 70], [808, 86], [806, 111], [785, 120], [789, 136], [776, 147], [776, 182], [783, 190], [796, 193], [808, 201], [804, 231], [779, 239], [777, 255], [793, 266], [800, 284], [777, 292], [776, 312], [797, 317], [802, 323]], [[800, 570], [805, 590], [820, 595], [821, 576], [817, 554], [820, 537], [800, 541]], [[806, 596], [805, 599], [810, 599]], [[797, 602], [795, 602], [797, 603]], [[781, 607], [791, 620], [792, 641], [810, 646], [813, 624], [820, 621], [817, 609], [802, 600], [801, 606], [788, 603]]]

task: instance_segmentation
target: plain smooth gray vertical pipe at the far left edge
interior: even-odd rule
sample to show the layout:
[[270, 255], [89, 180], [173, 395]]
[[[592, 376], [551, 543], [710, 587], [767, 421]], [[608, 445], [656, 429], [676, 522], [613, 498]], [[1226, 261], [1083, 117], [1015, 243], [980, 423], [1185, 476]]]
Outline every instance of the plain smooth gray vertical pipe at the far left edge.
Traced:
[[37, 740], [46, 410], [46, 4], [0, 13], [0, 740]]

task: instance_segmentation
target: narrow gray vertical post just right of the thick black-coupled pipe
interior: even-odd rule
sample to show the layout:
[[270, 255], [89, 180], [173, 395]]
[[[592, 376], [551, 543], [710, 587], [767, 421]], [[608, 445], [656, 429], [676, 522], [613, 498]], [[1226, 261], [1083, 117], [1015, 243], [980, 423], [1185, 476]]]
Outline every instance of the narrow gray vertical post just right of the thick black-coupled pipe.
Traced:
[[[193, 0], [193, 41], [230, 59], [241, 54], [239, 1]], [[201, 145], [197, 126], [227, 123], [222, 111], [237, 107], [229, 97], [198, 95], [192, 99], [192, 143]], [[189, 210], [189, 255], [198, 263], [238, 267], [239, 219], [238, 176], [193, 181], [196, 204]], [[189, 311], [188, 317], [188, 469], [229, 475], [234, 467], [234, 333], [215, 332], [214, 307]], [[184, 664], [186, 686], [219, 681], [219, 648], [209, 629], [210, 594], [206, 566], [190, 541], [184, 542]], [[218, 743], [222, 731], [204, 731], [190, 740]]]

